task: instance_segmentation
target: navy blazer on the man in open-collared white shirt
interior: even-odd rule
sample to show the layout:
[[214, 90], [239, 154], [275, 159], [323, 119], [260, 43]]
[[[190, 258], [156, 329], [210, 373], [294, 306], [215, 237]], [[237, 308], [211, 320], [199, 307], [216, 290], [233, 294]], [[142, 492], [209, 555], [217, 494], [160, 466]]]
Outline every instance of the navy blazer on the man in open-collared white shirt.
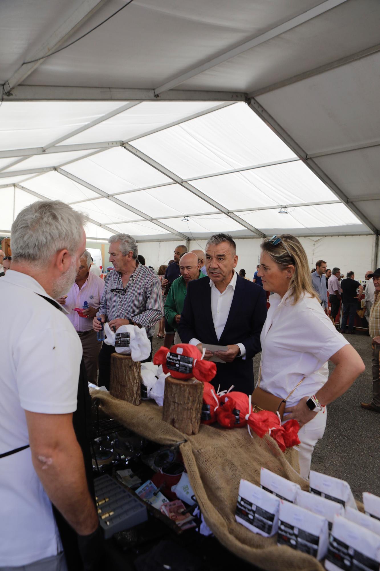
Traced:
[[266, 319], [266, 295], [261, 286], [236, 276], [235, 292], [223, 333], [218, 341], [211, 313], [210, 280], [193, 280], [188, 283], [187, 294], [178, 333], [182, 343], [193, 337], [201, 343], [233, 345], [242, 343], [246, 357], [236, 357], [232, 363], [216, 363], [217, 373], [212, 384], [220, 390], [235, 385], [234, 391], [252, 394], [253, 357], [261, 351], [260, 333]]

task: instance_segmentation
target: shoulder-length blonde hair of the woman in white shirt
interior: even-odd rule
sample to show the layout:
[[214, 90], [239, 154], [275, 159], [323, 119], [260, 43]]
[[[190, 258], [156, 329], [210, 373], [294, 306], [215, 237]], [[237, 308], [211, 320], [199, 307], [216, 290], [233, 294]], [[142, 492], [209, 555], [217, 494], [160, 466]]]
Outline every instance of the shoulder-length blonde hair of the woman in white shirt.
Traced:
[[261, 250], [269, 254], [273, 262], [284, 270], [287, 266], [294, 266], [294, 274], [290, 279], [289, 289], [292, 289], [292, 305], [296, 304], [303, 293], [309, 293], [311, 297], [320, 300], [312, 286], [312, 278], [309, 270], [309, 262], [306, 252], [300, 240], [291, 234], [281, 234], [276, 246], [273, 246], [272, 238], [265, 238], [261, 244]]

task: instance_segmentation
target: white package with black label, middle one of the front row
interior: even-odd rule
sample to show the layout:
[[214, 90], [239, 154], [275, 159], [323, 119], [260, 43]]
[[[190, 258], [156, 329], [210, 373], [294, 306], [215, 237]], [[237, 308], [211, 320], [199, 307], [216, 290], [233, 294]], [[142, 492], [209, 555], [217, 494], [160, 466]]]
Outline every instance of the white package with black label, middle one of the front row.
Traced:
[[280, 500], [278, 517], [277, 545], [288, 545], [318, 560], [325, 557], [329, 544], [325, 517], [284, 500]]

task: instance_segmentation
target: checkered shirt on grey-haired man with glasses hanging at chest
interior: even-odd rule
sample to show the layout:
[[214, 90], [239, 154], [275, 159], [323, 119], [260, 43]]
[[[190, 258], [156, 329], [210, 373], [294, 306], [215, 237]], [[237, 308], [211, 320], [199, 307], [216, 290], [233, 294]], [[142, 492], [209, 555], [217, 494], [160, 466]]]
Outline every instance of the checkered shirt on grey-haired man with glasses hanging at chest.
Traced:
[[152, 337], [155, 324], [163, 315], [161, 283], [156, 273], [138, 264], [128, 280], [125, 295], [112, 293], [111, 289], [123, 289], [122, 275], [116, 270], [111, 270], [106, 278], [97, 315], [106, 315], [107, 321], [132, 319]]

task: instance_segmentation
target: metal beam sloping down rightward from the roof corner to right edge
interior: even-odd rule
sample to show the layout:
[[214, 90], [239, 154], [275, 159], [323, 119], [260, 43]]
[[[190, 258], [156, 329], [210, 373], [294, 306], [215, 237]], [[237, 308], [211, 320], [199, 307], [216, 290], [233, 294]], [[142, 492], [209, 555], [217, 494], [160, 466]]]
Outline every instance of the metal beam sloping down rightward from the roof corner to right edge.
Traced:
[[363, 214], [363, 212], [359, 210], [359, 208], [357, 208], [354, 204], [349, 203], [349, 199], [341, 190], [341, 188], [339, 188], [337, 184], [335, 184], [333, 180], [330, 179], [328, 175], [326, 175], [326, 173], [313, 159], [307, 159], [308, 155], [304, 149], [289, 135], [288, 132], [285, 131], [284, 128], [281, 127], [279, 123], [277, 123], [276, 119], [274, 119], [272, 115], [270, 115], [268, 111], [266, 111], [264, 107], [262, 107], [260, 103], [257, 102], [256, 99], [252, 98], [248, 100], [248, 106], [254, 113], [256, 113], [258, 117], [264, 121], [266, 125], [268, 125], [268, 127], [272, 129], [273, 132], [275, 132], [280, 137], [280, 139], [285, 144], [288, 145], [294, 154], [296, 154], [298, 158], [300, 158], [302, 162], [306, 164], [306, 166], [310, 168], [310, 170], [314, 172], [314, 174], [318, 176], [318, 178], [324, 184], [326, 184], [326, 186], [334, 193], [334, 195], [337, 196], [342, 203], [346, 204], [346, 207], [349, 208], [349, 210], [353, 212], [353, 214], [357, 216], [357, 218], [361, 220], [363, 224], [366, 224], [366, 226], [368, 226], [374, 234], [377, 234], [378, 228], [376, 228], [374, 224], [371, 223], [369, 219], [367, 219], [367, 217]]

